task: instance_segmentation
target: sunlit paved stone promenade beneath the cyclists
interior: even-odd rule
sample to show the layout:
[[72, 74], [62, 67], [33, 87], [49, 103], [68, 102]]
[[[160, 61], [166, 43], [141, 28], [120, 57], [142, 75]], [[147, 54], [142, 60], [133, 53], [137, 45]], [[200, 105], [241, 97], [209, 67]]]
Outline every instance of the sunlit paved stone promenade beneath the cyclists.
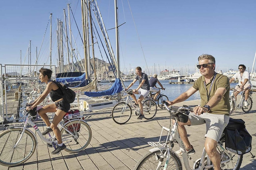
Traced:
[[[253, 94], [255, 101], [256, 94]], [[199, 100], [185, 101], [177, 106], [186, 104], [190, 107], [198, 105]], [[232, 118], [243, 119], [246, 128], [251, 135], [256, 131], [256, 104], [254, 103], [249, 113], [237, 110]], [[16, 167], [5, 167], [0, 165], [1, 170], [5, 169], [26, 169], [26, 170], [128, 170], [133, 169], [137, 161], [145, 155], [150, 147], [148, 141], [158, 141], [161, 126], [167, 126], [169, 113], [165, 110], [157, 111], [157, 120], [138, 120], [132, 116], [125, 125], [116, 124], [111, 118], [111, 110], [101, 110], [85, 114], [86, 121], [91, 125], [92, 140], [89, 146], [79, 153], [68, 153], [62, 151], [59, 155], [51, 155], [53, 148], [47, 147], [40, 138], [34, 155], [24, 164]], [[159, 124], [161, 125], [159, 125]], [[37, 122], [37, 126], [43, 131], [46, 126], [43, 122]], [[1, 131], [3, 128], [0, 129]], [[34, 131], [31, 128], [32, 131]], [[192, 126], [187, 128], [189, 140], [196, 150], [193, 159], [199, 159], [204, 144], [205, 125]], [[37, 135], [38, 136], [38, 135]], [[256, 137], [252, 136], [252, 153], [256, 155]], [[178, 150], [177, 147], [174, 150]], [[191, 162], [191, 161], [190, 161]], [[193, 165], [192, 162], [190, 164]], [[256, 169], [256, 161], [250, 154], [245, 154], [240, 169]]]

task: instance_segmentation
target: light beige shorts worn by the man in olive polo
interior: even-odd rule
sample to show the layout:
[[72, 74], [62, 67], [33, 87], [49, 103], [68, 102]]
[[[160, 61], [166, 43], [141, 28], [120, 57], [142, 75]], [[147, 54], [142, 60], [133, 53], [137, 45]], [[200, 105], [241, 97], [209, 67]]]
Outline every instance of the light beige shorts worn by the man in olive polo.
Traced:
[[204, 136], [218, 142], [221, 138], [222, 132], [228, 125], [229, 116], [212, 113], [203, 113], [201, 115], [191, 114], [189, 115], [189, 120], [191, 125], [202, 125], [205, 123], [206, 134]]

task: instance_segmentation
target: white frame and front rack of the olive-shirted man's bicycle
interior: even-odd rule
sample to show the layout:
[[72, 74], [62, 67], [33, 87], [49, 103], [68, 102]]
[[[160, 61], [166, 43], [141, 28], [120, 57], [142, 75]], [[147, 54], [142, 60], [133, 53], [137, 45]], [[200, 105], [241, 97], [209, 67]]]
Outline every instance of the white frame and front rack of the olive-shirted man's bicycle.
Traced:
[[[166, 104], [164, 104], [164, 106], [170, 112], [170, 108], [168, 108]], [[166, 170], [167, 166], [168, 166], [169, 159], [170, 159], [170, 153], [171, 153], [171, 151], [173, 149], [173, 146], [174, 146], [174, 142], [177, 142], [179, 144], [180, 150], [182, 152], [183, 163], [184, 163], [184, 166], [185, 166], [186, 170], [192, 170], [190, 168], [190, 165], [189, 165], [189, 159], [188, 159], [189, 156], [188, 156], [188, 154], [186, 152], [186, 147], [185, 147], [183, 141], [181, 140], [179, 133], [177, 133], [178, 118], [176, 116], [173, 116], [173, 117], [175, 117], [175, 123], [174, 123], [172, 129], [170, 130], [170, 128], [166, 128], [166, 127], [163, 126], [162, 127], [162, 132], [161, 132], [161, 135], [160, 135], [160, 138], [159, 138], [159, 141], [158, 142], [148, 142], [148, 144], [150, 144], [152, 147], [154, 147], [153, 149], [150, 149], [149, 151], [150, 152], [154, 152], [156, 150], [160, 150], [163, 153], [163, 150], [166, 149], [165, 153], [161, 156], [161, 158], [164, 158], [166, 156], [166, 154], [167, 154], [167, 159], [166, 159], [165, 165], [164, 165], [164, 170]], [[171, 127], [171, 123], [170, 123], [170, 127]], [[161, 136], [162, 136], [163, 130], [166, 130], [168, 132], [167, 133], [167, 139], [169, 139], [169, 140], [166, 140], [164, 144], [161, 144], [160, 140], [161, 140]], [[170, 144], [168, 146], [167, 143], [169, 143], [169, 142], [170, 142]], [[221, 161], [221, 164], [225, 163], [225, 162], [229, 162], [231, 160], [231, 155], [219, 143], [217, 143], [217, 145], [229, 157], [229, 159], [227, 159], [225, 161]], [[206, 158], [206, 162], [207, 162], [206, 166], [205, 166], [205, 158]], [[194, 169], [194, 170], [203, 170], [205, 168], [207, 169], [207, 168], [212, 168], [213, 167], [213, 165], [210, 165], [211, 164], [211, 160], [209, 159], [209, 157], [208, 156], [206, 157], [206, 150], [205, 150], [205, 148], [203, 148], [203, 153], [202, 153], [201, 159], [197, 159], [196, 162], [194, 163], [193, 167], [195, 167], [196, 163], [199, 160], [200, 160], [199, 167]], [[160, 169], [160, 167], [162, 166], [162, 163], [163, 162], [159, 161], [158, 166], [157, 166], [157, 170]]]

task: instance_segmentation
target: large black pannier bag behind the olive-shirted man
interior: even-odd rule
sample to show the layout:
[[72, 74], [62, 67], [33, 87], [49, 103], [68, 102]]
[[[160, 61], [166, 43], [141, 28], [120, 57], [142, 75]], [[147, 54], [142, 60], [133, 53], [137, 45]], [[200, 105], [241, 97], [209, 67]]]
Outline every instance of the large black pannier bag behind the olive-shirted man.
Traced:
[[251, 135], [245, 129], [242, 119], [229, 118], [228, 125], [224, 129], [225, 148], [233, 153], [242, 155], [251, 151]]

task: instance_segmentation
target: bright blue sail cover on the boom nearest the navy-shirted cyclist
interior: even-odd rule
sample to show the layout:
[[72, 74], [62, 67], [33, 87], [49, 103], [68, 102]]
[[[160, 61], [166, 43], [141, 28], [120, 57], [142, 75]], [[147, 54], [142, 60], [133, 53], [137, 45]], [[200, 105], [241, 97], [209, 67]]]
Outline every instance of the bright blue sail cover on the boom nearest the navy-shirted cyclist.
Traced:
[[103, 91], [95, 91], [95, 92], [88, 92], [85, 91], [84, 94], [88, 97], [99, 97], [99, 96], [106, 96], [106, 95], [112, 95], [115, 93], [118, 93], [122, 91], [122, 83], [120, 79], [115, 79], [114, 84], [111, 86], [108, 90]]

